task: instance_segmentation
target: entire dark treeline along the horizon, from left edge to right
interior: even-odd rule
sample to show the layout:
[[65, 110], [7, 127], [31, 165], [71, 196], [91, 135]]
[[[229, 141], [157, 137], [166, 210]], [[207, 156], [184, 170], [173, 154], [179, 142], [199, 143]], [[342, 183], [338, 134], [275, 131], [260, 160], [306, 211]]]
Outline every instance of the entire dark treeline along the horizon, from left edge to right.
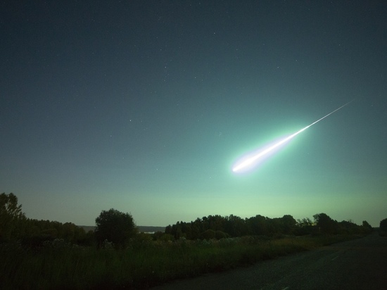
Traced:
[[[262, 215], [241, 218], [236, 215], [208, 215], [191, 222], [177, 222], [165, 227], [165, 232], [153, 235], [140, 232], [129, 213], [120, 213], [111, 208], [103, 210], [96, 217], [95, 232], [85, 232], [71, 222], [53, 222], [49, 220], [32, 220], [25, 217], [18, 206], [14, 194], [0, 194], [0, 243], [18, 241], [26, 246], [42, 246], [46, 241], [61, 239], [70, 244], [82, 246], [114, 246], [125, 248], [129, 244], [141, 244], [144, 241], [174, 241], [181, 238], [224, 239], [228, 237], [281, 235], [302, 236], [307, 234], [367, 234], [372, 227], [367, 221], [356, 225], [351, 220], [337, 222], [325, 213], [310, 218], [295, 220], [291, 215], [269, 218]], [[381, 229], [386, 227], [386, 220], [381, 222]]]

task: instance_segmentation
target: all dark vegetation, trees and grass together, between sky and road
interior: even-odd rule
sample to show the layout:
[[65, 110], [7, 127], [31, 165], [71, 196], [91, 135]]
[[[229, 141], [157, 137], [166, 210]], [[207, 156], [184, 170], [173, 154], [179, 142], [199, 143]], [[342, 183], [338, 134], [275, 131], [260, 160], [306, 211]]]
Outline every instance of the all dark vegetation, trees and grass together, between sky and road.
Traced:
[[0, 289], [146, 289], [372, 232], [368, 222], [320, 213], [313, 222], [210, 215], [145, 234], [131, 215], [110, 209], [85, 233], [71, 223], [27, 219], [17, 203], [0, 194]]

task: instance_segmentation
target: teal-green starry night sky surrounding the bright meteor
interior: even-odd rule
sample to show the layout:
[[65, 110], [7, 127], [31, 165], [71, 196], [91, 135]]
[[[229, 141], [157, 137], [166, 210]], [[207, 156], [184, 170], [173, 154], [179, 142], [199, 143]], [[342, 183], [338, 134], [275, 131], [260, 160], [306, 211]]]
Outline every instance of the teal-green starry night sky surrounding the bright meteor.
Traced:
[[0, 192], [76, 225], [115, 208], [137, 225], [379, 226], [386, 15], [386, 1], [1, 1]]

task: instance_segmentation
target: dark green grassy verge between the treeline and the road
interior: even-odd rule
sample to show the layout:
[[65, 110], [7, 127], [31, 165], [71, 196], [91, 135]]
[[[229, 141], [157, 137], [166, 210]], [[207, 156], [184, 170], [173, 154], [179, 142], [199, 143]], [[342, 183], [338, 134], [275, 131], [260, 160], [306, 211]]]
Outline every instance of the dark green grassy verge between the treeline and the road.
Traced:
[[35, 250], [0, 245], [0, 289], [147, 289], [172, 279], [251, 265], [359, 236], [149, 241], [97, 250], [63, 241]]

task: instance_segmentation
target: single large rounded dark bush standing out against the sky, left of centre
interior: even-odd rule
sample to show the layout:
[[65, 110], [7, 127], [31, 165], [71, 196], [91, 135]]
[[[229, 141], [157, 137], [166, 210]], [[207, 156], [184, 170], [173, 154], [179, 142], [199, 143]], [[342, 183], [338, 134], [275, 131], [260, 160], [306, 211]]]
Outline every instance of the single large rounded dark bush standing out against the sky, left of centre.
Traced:
[[101, 246], [103, 241], [111, 241], [117, 248], [129, 244], [130, 238], [137, 234], [137, 227], [134, 224], [132, 215], [121, 213], [114, 208], [102, 210], [96, 218], [96, 240]]

